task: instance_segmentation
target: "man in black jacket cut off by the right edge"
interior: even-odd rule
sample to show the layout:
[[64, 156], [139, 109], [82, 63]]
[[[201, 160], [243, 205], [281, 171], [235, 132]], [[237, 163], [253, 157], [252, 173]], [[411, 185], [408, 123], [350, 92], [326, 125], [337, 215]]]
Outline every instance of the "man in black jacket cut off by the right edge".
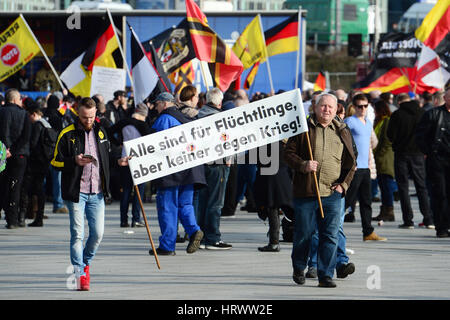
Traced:
[[431, 208], [438, 238], [449, 237], [450, 228], [450, 88], [445, 105], [425, 112], [416, 130], [416, 142], [427, 156], [431, 183]]

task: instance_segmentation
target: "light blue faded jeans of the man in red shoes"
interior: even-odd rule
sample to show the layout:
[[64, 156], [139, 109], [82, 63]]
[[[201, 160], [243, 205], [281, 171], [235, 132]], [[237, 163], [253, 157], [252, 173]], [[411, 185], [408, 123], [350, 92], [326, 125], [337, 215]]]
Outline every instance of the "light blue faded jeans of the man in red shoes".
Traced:
[[[103, 193], [80, 193], [79, 202], [66, 201], [70, 218], [70, 261], [83, 275], [84, 267], [91, 264], [103, 238], [105, 227], [105, 201]], [[84, 217], [89, 226], [89, 236], [83, 248]]]

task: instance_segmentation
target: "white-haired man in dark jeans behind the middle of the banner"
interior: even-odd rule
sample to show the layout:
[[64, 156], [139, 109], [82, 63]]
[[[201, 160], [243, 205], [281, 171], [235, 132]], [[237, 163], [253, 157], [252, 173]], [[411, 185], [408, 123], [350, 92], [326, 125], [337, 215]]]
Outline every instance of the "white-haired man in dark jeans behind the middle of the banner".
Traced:
[[[206, 104], [200, 109], [198, 118], [221, 112], [223, 93], [213, 88], [206, 93]], [[207, 187], [200, 190], [197, 221], [205, 233], [204, 245], [207, 250], [229, 250], [232, 245], [221, 239], [220, 216], [225, 201], [225, 190], [230, 173], [229, 164], [217, 162], [205, 165]]]

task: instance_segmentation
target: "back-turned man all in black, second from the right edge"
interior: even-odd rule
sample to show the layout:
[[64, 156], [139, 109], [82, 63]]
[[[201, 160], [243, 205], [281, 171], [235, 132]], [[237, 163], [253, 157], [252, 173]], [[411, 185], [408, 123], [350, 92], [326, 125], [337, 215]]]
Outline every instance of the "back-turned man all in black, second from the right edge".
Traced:
[[409, 175], [414, 180], [420, 212], [423, 222], [419, 226], [434, 229], [430, 200], [425, 185], [425, 158], [416, 144], [416, 126], [424, 111], [415, 100], [406, 98], [395, 111], [387, 129], [388, 139], [394, 149], [395, 180], [398, 184], [400, 205], [402, 209], [402, 229], [414, 229], [413, 210], [409, 197]]

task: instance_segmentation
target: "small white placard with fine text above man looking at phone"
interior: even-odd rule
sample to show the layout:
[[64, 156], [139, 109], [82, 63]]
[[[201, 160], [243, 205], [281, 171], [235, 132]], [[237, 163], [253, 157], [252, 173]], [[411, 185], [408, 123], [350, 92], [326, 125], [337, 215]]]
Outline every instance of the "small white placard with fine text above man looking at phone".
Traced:
[[126, 72], [124, 69], [94, 66], [91, 79], [91, 97], [101, 94], [105, 101], [114, 99], [114, 92], [125, 90]]

